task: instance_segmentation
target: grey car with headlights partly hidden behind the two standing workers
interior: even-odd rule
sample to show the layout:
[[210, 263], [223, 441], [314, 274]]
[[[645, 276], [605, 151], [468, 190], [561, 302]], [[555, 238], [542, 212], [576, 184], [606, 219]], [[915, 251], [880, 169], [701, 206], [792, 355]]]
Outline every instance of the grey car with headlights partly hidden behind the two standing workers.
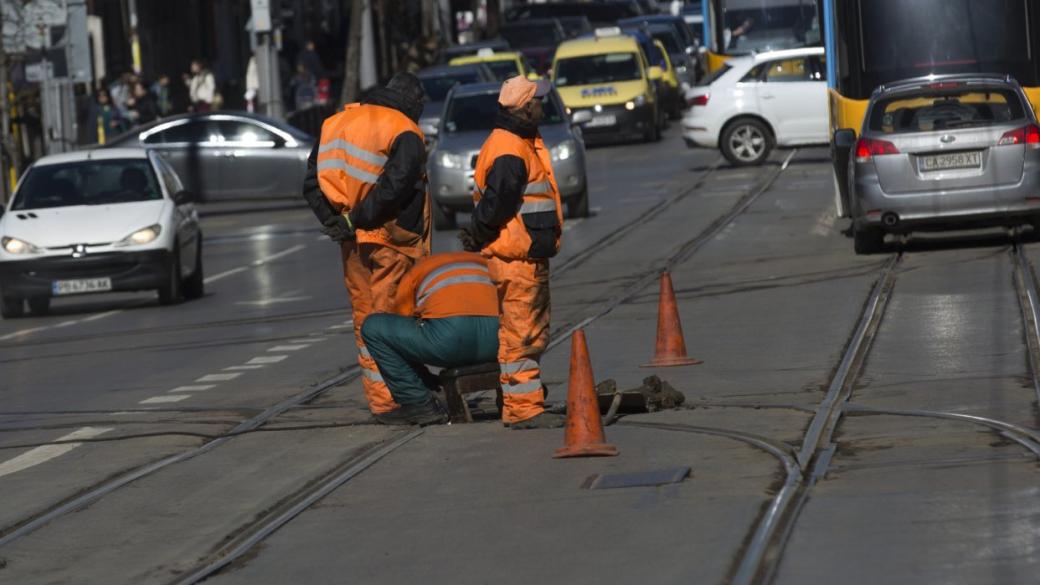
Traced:
[[[430, 190], [434, 198], [434, 226], [456, 226], [456, 212], [473, 208], [473, 170], [476, 155], [494, 128], [499, 83], [459, 85], [448, 94], [441, 120], [440, 139], [430, 153]], [[545, 119], [540, 131], [549, 148], [552, 170], [568, 218], [589, 214], [584, 143], [555, 91], [543, 101]]]

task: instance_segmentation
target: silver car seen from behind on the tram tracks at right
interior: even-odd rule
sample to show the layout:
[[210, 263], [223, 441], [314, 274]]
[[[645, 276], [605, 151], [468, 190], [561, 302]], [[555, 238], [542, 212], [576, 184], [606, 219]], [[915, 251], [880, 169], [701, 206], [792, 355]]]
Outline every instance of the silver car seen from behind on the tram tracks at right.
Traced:
[[886, 233], [1040, 221], [1040, 127], [1010, 76], [940, 75], [874, 92], [849, 161], [858, 254]]

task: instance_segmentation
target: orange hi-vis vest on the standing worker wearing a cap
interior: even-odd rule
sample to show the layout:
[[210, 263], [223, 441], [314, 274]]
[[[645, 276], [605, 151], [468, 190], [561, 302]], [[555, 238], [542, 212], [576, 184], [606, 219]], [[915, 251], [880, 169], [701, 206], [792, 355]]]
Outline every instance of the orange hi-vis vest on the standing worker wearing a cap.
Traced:
[[560, 251], [560, 236], [564, 225], [560, 188], [552, 174], [549, 150], [542, 137], [523, 138], [509, 130], [495, 128], [484, 143], [476, 158], [473, 180], [473, 204], [480, 202], [487, 188], [488, 172], [495, 159], [503, 155], [517, 156], [527, 168], [527, 186], [523, 192], [520, 210], [502, 227], [498, 237], [484, 248], [484, 253], [505, 260], [530, 258], [531, 229], [554, 229], [552, 254]]

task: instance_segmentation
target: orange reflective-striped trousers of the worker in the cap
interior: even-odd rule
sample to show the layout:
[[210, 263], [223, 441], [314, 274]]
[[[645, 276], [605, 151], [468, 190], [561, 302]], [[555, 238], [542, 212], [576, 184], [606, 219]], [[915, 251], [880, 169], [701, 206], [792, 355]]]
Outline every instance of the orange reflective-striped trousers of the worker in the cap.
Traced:
[[498, 288], [502, 422], [519, 423], [545, 412], [539, 360], [549, 345], [549, 261], [488, 258]]

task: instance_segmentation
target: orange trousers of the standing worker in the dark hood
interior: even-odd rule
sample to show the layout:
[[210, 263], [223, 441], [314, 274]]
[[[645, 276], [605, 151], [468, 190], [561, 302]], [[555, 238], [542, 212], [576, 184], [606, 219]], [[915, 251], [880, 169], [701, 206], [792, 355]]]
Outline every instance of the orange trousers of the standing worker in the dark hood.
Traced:
[[344, 241], [340, 245], [343, 256], [343, 277], [354, 308], [354, 339], [358, 344], [358, 364], [361, 365], [361, 383], [368, 399], [368, 408], [376, 413], [390, 412], [397, 403], [383, 382], [375, 360], [368, 354], [361, 338], [361, 326], [372, 313], [393, 312], [397, 285], [415, 260], [400, 252], [375, 244]]

